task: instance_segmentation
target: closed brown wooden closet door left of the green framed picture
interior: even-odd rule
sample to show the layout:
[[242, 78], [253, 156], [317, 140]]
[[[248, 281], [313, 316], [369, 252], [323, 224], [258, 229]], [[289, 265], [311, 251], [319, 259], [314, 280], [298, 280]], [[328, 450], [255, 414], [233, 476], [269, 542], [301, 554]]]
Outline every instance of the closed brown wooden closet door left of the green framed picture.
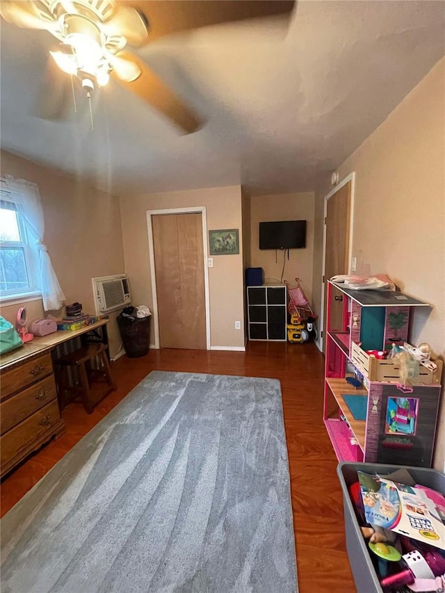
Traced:
[[160, 346], [205, 350], [202, 216], [156, 214], [152, 225]]

